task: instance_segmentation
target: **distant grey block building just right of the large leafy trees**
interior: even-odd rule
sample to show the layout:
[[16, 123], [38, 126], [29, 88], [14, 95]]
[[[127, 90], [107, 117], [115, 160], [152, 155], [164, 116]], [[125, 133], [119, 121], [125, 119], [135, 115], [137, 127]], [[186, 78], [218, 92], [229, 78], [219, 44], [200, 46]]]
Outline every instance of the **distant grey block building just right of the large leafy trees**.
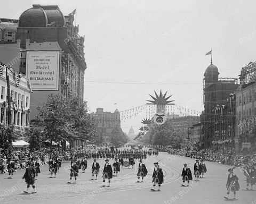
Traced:
[[[121, 126], [120, 113], [116, 109], [114, 113], [103, 112], [103, 108], [97, 108], [96, 113], [91, 114], [96, 125], [96, 142], [108, 143], [108, 135], [116, 125]], [[106, 141], [107, 140], [107, 141]]]

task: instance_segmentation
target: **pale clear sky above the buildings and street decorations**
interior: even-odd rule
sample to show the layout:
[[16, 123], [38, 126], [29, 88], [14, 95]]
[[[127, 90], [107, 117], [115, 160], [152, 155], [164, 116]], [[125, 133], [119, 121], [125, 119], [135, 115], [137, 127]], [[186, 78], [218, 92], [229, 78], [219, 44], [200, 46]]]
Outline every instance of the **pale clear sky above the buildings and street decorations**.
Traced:
[[[58, 5], [65, 15], [76, 9], [85, 36], [84, 100], [93, 112], [141, 106], [161, 89], [175, 104], [202, 112], [211, 48], [219, 77], [238, 78], [256, 61], [253, 0], [1, 0], [0, 16], [18, 19], [32, 4]], [[145, 117], [122, 121], [123, 131]]]

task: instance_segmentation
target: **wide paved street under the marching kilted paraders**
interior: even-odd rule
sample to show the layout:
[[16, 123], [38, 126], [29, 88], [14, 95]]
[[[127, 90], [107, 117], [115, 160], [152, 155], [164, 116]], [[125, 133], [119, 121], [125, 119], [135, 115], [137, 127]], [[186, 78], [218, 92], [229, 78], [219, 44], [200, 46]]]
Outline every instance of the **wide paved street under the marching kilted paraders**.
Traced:
[[[164, 171], [162, 191], [152, 192], [151, 176], [153, 163], [159, 162]], [[103, 160], [99, 161], [101, 167]], [[113, 163], [113, 160], [110, 160]], [[26, 184], [21, 177], [25, 170], [18, 170], [13, 179], [7, 179], [7, 174], [0, 175], [0, 203], [256, 203], [256, 191], [246, 191], [245, 176], [238, 168], [234, 173], [239, 177], [241, 189], [237, 192], [236, 200], [224, 200], [226, 195], [227, 169], [230, 166], [205, 162], [207, 173], [199, 182], [191, 182], [190, 187], [181, 187], [181, 170], [183, 163], [193, 171], [195, 159], [169, 155], [160, 152], [158, 157], [146, 159], [148, 175], [145, 182], [137, 183], [137, 164], [134, 168], [121, 168], [117, 177], [111, 180], [109, 188], [102, 188], [102, 179], [91, 181], [92, 160], [88, 161], [86, 173], [79, 174], [76, 184], [67, 184], [69, 179], [69, 162], [63, 163], [56, 178], [49, 178], [47, 166], [41, 167], [36, 181], [36, 194], [24, 194]], [[254, 189], [255, 186], [254, 186]], [[31, 189], [30, 189], [31, 190]], [[233, 198], [233, 194], [231, 197]]]

